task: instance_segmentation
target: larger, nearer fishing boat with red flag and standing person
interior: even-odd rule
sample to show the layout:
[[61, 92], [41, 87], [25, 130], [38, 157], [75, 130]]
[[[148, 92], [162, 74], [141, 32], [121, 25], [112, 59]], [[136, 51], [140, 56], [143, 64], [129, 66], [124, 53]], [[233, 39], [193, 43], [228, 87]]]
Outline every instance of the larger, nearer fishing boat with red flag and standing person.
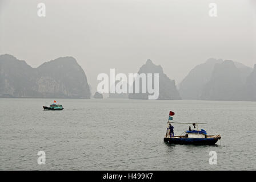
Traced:
[[[221, 135], [208, 135], [207, 132], [203, 129], [198, 130], [199, 124], [206, 123], [182, 123], [182, 122], [172, 122], [173, 121], [174, 112], [170, 111], [169, 113], [169, 121], [167, 122], [167, 130], [165, 138], [163, 141], [170, 144], [201, 144], [201, 145], [214, 145], [218, 140], [221, 139]], [[185, 135], [172, 136], [171, 137], [171, 124], [192, 124], [194, 126], [194, 130], [189, 130], [183, 132]], [[195, 130], [195, 128], [197, 129]]]

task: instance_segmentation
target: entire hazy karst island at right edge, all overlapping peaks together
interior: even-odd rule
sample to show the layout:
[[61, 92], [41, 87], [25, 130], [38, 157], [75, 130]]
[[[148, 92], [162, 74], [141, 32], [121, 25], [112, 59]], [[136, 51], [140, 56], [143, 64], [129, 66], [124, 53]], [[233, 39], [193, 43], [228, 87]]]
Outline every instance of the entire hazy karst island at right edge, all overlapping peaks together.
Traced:
[[197, 65], [179, 84], [186, 100], [256, 101], [256, 66], [209, 59]]

